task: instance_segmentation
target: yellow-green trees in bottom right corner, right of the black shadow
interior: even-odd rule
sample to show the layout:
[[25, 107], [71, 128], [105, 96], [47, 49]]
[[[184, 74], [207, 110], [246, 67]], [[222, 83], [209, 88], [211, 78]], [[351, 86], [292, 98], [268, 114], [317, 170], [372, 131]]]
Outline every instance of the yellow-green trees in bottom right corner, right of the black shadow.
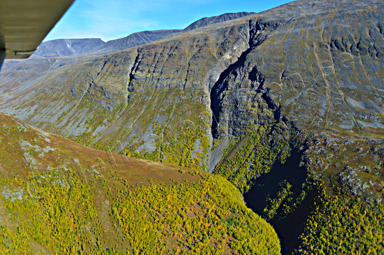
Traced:
[[318, 195], [296, 254], [383, 254], [384, 205]]

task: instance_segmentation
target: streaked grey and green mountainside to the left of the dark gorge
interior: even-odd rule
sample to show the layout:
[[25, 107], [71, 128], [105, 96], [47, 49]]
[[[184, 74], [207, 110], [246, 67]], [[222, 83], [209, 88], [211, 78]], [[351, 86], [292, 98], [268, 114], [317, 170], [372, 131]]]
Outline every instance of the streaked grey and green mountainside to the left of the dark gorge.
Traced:
[[[5, 85], [3, 93], [12, 98], [23, 87], [18, 100], [30, 106], [21, 109], [13, 100], [4, 105], [31, 123], [99, 148], [159, 154], [156, 149], [169, 146], [171, 151], [161, 157], [170, 163], [176, 160], [172, 153], [178, 146], [172, 141], [181, 131], [180, 122], [193, 122], [193, 133], [185, 134], [184, 160], [202, 168], [209, 147], [209, 84], [246, 49], [248, 40], [248, 24], [241, 22], [106, 56], [60, 59], [61, 64], [32, 79], [5, 68], [3, 81], [28, 80], [30, 90]], [[155, 129], [159, 133], [152, 135]]]

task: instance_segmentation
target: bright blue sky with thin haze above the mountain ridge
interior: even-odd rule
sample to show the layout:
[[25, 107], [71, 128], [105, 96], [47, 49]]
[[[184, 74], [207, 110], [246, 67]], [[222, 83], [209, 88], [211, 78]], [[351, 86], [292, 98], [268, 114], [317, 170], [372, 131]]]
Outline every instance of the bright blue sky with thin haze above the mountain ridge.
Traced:
[[104, 42], [144, 30], [184, 29], [204, 17], [262, 12], [283, 0], [76, 0], [44, 41], [101, 38]]

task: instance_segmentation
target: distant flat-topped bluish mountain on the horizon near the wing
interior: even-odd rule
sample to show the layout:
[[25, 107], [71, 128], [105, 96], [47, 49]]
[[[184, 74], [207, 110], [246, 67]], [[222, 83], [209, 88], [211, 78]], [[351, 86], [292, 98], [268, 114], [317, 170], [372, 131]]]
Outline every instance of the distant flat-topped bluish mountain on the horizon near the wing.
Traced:
[[88, 52], [105, 44], [101, 39], [58, 39], [43, 42], [32, 57], [64, 57]]

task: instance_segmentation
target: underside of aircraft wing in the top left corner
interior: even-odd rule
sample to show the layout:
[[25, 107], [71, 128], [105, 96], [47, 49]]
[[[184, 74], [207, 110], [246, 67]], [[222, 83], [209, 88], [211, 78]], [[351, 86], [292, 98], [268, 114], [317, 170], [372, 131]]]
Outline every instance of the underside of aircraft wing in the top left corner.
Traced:
[[31, 56], [74, 0], [0, 0], [0, 67]]

